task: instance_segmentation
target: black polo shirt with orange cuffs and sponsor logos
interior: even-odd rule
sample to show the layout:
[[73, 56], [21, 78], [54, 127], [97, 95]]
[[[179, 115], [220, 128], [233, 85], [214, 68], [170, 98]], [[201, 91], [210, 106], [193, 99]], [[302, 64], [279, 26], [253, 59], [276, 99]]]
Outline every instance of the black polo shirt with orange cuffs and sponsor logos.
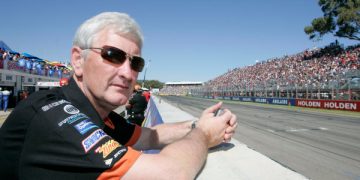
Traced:
[[1, 179], [121, 177], [140, 156], [139, 126], [101, 119], [73, 79], [23, 100], [0, 129]]

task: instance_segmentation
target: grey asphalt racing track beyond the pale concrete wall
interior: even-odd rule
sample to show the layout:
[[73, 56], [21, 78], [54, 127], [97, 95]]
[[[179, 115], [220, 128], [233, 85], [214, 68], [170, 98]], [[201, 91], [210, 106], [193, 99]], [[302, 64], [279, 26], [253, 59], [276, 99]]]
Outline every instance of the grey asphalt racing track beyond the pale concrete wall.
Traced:
[[[161, 98], [195, 117], [215, 103]], [[310, 179], [360, 180], [360, 113], [235, 101], [224, 107], [238, 117], [234, 138], [249, 148]]]

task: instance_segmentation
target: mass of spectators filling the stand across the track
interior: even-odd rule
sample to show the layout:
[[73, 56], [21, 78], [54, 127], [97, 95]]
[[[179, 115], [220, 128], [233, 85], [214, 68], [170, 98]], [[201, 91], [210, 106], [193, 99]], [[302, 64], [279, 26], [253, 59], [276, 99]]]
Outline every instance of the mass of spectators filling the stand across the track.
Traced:
[[[360, 78], [360, 44], [345, 49], [337, 43], [332, 43], [324, 48], [305, 50], [295, 55], [268, 59], [255, 65], [229, 70], [206, 82], [205, 86], [210, 90], [279, 90], [289, 87], [331, 89], [344, 87], [355, 77]], [[164, 89], [167, 94], [177, 94], [175, 92], [189, 88]]]

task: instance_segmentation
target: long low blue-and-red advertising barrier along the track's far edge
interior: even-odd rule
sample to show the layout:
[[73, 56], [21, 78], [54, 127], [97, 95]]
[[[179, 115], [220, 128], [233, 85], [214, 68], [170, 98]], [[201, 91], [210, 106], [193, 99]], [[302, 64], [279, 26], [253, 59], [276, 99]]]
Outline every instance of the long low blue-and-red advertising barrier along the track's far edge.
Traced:
[[203, 98], [360, 112], [360, 101], [317, 100], [317, 99], [309, 100], [309, 99], [294, 99], [294, 98], [288, 99], [288, 98], [264, 98], [264, 97], [241, 97], [241, 96], [204, 96]]

